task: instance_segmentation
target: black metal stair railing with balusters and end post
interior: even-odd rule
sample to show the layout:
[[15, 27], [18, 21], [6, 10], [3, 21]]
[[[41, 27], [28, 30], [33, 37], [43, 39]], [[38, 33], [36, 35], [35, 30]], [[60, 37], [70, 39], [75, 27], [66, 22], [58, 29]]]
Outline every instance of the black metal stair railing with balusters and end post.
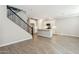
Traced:
[[27, 22], [25, 22], [12, 8], [7, 6], [7, 17], [13, 21], [15, 24], [19, 25], [22, 29], [29, 32], [33, 36], [33, 27], [31, 27]]

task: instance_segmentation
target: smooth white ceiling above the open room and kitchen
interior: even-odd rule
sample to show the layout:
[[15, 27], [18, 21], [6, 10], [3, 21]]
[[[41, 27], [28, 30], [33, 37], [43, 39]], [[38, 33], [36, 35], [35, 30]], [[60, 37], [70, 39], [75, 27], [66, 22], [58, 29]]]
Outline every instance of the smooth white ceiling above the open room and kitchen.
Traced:
[[79, 16], [79, 5], [18, 5], [15, 7], [26, 10], [31, 17]]

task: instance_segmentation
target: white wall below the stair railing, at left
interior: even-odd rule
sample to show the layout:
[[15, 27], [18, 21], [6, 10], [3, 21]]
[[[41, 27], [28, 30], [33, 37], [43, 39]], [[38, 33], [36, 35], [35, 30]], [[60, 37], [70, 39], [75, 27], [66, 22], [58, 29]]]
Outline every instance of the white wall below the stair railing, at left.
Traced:
[[31, 35], [6, 17], [6, 6], [0, 5], [0, 47], [31, 39]]

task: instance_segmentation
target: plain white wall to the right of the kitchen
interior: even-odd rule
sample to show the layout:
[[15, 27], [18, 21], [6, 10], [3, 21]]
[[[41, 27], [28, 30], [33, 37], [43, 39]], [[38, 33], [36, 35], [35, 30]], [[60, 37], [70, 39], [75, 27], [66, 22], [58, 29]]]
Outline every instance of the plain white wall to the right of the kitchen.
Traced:
[[56, 20], [56, 32], [79, 37], [79, 17], [68, 17]]

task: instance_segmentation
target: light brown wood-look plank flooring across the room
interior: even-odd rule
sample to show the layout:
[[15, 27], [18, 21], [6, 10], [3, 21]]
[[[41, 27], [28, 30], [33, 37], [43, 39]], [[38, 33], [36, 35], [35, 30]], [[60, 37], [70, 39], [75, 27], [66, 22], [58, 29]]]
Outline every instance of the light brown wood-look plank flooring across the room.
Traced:
[[44, 38], [35, 35], [34, 40], [26, 40], [0, 47], [0, 54], [78, 54], [79, 38], [54, 35]]

